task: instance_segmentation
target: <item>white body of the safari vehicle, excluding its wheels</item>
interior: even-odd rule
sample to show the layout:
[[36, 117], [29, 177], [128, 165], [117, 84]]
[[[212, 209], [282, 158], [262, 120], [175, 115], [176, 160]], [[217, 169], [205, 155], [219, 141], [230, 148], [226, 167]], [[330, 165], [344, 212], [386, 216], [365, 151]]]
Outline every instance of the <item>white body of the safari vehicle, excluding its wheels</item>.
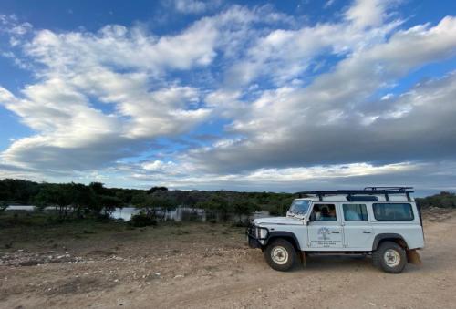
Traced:
[[[295, 199], [286, 217], [254, 220], [249, 245], [264, 250], [282, 238], [305, 254], [371, 253], [385, 241], [397, 242], [407, 252], [423, 248], [420, 210], [412, 191], [403, 188], [306, 192], [306, 198]], [[295, 204], [308, 208], [293, 211]]]

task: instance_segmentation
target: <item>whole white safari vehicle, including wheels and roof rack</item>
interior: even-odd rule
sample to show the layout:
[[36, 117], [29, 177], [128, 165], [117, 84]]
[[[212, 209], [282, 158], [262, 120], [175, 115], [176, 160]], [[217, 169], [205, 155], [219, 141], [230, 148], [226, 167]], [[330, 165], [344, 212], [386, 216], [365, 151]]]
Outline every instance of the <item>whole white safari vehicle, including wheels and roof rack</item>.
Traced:
[[410, 187], [306, 191], [286, 217], [255, 219], [247, 229], [249, 246], [266, 262], [287, 271], [308, 254], [371, 254], [375, 266], [400, 273], [420, 263], [424, 247], [420, 209]]

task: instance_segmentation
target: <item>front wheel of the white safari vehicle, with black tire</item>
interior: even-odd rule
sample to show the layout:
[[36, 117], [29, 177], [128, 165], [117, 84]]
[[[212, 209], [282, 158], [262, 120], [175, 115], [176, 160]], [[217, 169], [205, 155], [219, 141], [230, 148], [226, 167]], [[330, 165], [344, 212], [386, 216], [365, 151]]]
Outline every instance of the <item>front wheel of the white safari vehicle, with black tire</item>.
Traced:
[[264, 258], [276, 271], [286, 272], [295, 265], [295, 247], [285, 239], [277, 239], [266, 247]]

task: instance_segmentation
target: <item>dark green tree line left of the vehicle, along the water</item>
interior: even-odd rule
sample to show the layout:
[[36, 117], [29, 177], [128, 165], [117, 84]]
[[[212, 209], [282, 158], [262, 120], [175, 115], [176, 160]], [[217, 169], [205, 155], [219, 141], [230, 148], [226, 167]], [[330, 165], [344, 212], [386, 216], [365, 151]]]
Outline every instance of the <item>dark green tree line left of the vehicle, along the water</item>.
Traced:
[[29, 180], [0, 180], [0, 204], [35, 205], [37, 210], [56, 207], [62, 218], [104, 215], [117, 207], [133, 206], [150, 217], [178, 206], [203, 209], [222, 220], [241, 218], [253, 211], [285, 214], [294, 195], [274, 192], [180, 191], [166, 187], [149, 190], [106, 188], [100, 182], [38, 183]]

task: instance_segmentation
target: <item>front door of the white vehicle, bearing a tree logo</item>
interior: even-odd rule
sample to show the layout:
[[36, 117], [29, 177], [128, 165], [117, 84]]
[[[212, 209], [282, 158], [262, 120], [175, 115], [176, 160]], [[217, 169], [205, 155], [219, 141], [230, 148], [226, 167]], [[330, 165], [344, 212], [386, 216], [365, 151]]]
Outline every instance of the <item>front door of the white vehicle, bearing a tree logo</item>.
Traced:
[[308, 250], [337, 251], [343, 248], [338, 212], [336, 203], [314, 203], [307, 221]]

